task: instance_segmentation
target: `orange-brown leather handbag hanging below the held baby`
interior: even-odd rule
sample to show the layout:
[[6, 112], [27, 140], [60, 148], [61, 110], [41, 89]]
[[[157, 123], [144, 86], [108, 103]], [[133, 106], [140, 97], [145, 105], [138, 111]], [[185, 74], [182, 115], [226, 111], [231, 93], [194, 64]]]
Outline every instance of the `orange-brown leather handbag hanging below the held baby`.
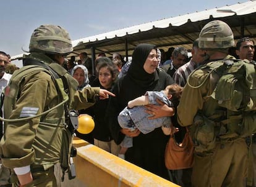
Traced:
[[180, 145], [176, 142], [174, 135], [171, 135], [166, 145], [164, 162], [169, 170], [187, 169], [192, 167], [194, 162], [194, 145], [187, 130]]

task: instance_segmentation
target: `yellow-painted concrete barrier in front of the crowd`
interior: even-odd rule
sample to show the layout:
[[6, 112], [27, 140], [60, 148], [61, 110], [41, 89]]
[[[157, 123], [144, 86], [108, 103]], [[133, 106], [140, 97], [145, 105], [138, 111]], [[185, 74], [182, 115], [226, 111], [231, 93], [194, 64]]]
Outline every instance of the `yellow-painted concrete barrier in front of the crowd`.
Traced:
[[74, 180], [65, 180], [61, 186], [178, 186], [86, 141], [75, 138], [74, 146], [77, 148], [77, 156], [74, 157], [77, 177]]

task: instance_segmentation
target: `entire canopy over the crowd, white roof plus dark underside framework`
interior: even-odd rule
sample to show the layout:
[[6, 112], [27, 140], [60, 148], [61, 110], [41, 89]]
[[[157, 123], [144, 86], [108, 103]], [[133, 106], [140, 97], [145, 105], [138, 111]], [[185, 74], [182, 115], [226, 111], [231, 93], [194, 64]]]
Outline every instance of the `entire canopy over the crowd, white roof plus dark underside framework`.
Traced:
[[155, 44], [165, 51], [171, 46], [191, 49], [202, 27], [216, 19], [228, 23], [235, 39], [243, 36], [256, 38], [256, 1], [247, 1], [77, 39], [72, 41], [74, 52], [69, 56], [77, 56], [80, 52], [92, 55], [93, 50], [95, 54], [105, 52], [107, 56], [113, 52], [132, 55], [140, 43]]

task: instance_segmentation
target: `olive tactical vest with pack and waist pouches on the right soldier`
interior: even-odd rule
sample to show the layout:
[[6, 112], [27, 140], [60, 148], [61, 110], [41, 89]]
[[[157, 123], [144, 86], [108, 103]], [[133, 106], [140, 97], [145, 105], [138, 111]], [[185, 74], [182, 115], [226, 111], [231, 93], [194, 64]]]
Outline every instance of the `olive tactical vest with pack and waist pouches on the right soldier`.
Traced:
[[207, 63], [200, 70], [209, 72], [206, 79], [210, 81], [211, 73], [218, 74], [211, 97], [223, 108], [221, 115], [224, 116], [217, 113], [210, 117], [202, 114], [195, 116], [195, 151], [209, 152], [215, 147], [216, 140], [232, 141], [256, 133], [255, 65], [247, 60], [224, 59]]

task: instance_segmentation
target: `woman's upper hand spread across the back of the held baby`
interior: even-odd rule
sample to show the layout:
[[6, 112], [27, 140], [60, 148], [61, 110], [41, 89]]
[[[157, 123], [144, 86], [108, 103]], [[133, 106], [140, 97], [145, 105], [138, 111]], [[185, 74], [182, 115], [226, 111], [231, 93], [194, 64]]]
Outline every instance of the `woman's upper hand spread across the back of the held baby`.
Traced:
[[152, 115], [148, 117], [148, 119], [156, 119], [158, 117], [168, 117], [168, 116], [171, 117], [175, 114], [174, 108], [169, 107], [159, 99], [156, 99], [156, 101], [160, 105], [145, 105], [145, 108], [147, 108], [145, 110], [145, 113]]

